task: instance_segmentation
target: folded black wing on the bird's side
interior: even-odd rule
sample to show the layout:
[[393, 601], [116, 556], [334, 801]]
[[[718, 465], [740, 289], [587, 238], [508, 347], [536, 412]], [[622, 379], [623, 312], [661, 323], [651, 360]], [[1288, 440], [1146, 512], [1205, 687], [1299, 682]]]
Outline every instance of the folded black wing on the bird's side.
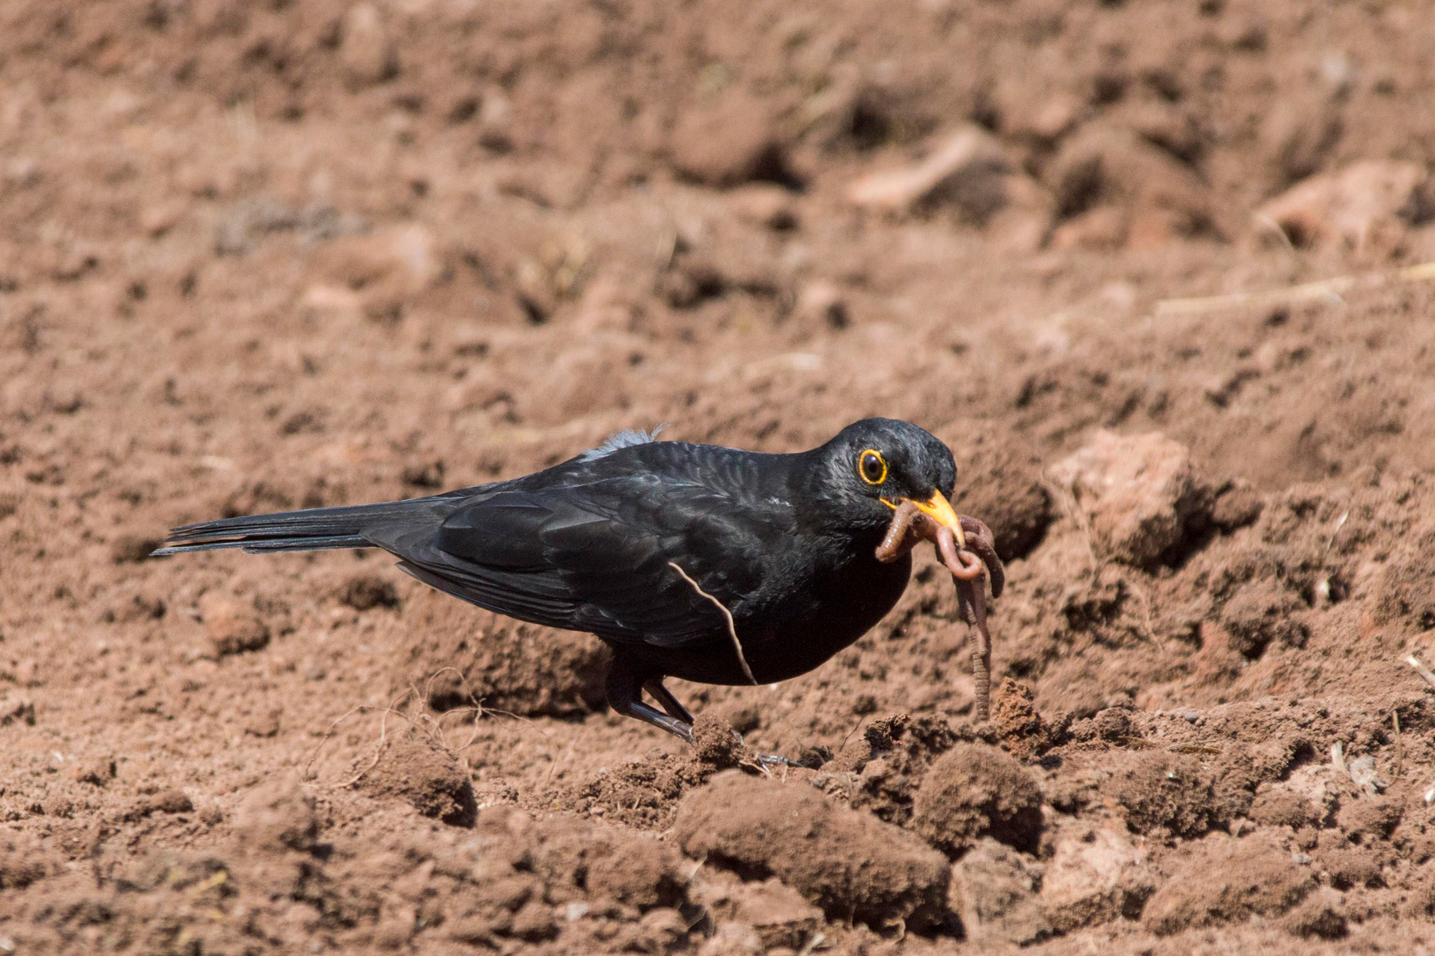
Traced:
[[[736, 509], [736, 510], [735, 510]], [[651, 473], [514, 489], [453, 510], [435, 532], [366, 532], [405, 570], [524, 621], [660, 646], [713, 639], [761, 583], [776, 527], [722, 492]]]

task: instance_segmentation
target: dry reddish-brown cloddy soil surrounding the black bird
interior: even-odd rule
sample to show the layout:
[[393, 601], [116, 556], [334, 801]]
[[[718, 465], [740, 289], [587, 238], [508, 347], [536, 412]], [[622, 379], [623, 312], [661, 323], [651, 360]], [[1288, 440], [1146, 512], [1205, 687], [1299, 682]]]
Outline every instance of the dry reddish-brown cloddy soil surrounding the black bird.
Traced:
[[[1432, 17], [0, 3], [0, 950], [1435, 946]], [[697, 748], [382, 555], [146, 558], [868, 414], [990, 724], [928, 553]]]

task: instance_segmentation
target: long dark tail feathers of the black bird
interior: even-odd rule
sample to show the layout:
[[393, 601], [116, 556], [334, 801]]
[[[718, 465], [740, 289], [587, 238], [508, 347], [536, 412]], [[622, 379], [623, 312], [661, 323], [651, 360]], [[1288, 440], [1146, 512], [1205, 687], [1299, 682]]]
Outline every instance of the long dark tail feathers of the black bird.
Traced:
[[433, 509], [433, 499], [385, 502], [382, 505], [346, 505], [311, 507], [301, 512], [221, 517], [217, 522], [175, 527], [155, 556], [191, 550], [243, 548], [247, 553], [278, 550], [327, 550], [333, 548], [373, 548], [363, 530], [395, 519], [418, 517]]

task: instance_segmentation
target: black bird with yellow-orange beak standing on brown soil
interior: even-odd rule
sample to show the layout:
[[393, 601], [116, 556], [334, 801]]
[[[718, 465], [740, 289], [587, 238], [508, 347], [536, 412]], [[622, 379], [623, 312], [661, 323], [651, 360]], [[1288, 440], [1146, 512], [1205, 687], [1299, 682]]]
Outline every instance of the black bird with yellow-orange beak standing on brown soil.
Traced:
[[188, 525], [155, 555], [382, 548], [481, 608], [597, 635], [613, 649], [613, 709], [690, 741], [693, 717], [664, 678], [811, 671], [907, 588], [910, 553], [874, 553], [903, 502], [957, 526], [951, 451], [907, 421], [867, 419], [796, 454], [654, 439], [624, 431], [551, 469], [433, 497]]

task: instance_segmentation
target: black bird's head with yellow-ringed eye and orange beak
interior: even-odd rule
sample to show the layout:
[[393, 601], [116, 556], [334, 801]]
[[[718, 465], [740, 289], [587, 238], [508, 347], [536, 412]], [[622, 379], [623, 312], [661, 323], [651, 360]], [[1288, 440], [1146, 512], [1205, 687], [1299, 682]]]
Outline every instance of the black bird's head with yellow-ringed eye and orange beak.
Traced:
[[910, 500], [938, 526], [957, 527], [951, 490], [957, 463], [930, 431], [895, 419], [864, 419], [817, 449], [819, 467], [811, 494], [829, 519], [847, 527], [878, 530]]

